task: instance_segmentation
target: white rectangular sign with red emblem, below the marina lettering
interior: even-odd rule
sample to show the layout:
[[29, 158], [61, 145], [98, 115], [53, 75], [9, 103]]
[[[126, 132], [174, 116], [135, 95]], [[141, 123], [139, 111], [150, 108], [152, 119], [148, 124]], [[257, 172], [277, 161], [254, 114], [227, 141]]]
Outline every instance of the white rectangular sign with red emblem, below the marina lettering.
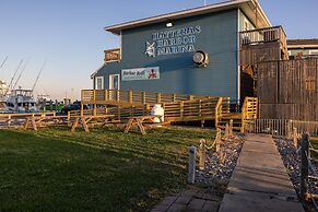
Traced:
[[122, 81], [157, 80], [157, 79], [160, 79], [160, 68], [158, 67], [122, 69], [121, 70], [121, 80]]

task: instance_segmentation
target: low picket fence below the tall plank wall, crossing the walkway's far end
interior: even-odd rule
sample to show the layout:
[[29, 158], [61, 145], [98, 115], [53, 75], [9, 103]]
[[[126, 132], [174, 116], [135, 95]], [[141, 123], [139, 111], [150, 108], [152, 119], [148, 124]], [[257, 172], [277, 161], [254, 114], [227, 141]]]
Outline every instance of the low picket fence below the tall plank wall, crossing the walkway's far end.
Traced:
[[288, 119], [250, 119], [245, 121], [245, 132], [247, 133], [269, 133], [276, 136], [288, 136], [293, 128], [297, 133], [309, 132], [318, 136], [318, 121], [299, 121]]

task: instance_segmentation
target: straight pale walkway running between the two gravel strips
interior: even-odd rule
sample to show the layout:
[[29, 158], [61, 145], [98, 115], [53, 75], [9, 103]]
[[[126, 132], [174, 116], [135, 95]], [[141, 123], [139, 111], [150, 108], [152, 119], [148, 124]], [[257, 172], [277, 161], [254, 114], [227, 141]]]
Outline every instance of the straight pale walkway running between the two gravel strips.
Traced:
[[219, 211], [304, 211], [270, 136], [247, 137]]

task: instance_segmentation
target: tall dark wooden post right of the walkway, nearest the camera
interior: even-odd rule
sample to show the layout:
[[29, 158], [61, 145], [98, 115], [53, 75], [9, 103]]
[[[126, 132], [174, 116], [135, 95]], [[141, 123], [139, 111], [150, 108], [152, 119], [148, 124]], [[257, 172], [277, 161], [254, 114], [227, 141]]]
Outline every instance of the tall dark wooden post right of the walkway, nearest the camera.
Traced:
[[308, 190], [308, 153], [309, 153], [309, 134], [302, 136], [302, 167], [301, 167], [301, 198], [306, 199]]

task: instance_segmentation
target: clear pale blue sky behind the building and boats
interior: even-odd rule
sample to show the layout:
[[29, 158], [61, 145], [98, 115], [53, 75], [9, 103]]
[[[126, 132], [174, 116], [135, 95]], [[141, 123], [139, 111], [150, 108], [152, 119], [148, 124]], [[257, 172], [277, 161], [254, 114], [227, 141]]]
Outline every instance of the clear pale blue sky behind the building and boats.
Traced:
[[[259, 2], [273, 25], [284, 26], [287, 38], [318, 37], [318, 0]], [[80, 98], [81, 89], [92, 89], [90, 75], [103, 64], [104, 50], [119, 46], [105, 26], [203, 4], [204, 0], [0, 0], [0, 64], [8, 56], [0, 80], [9, 83], [23, 60], [27, 64], [17, 85], [31, 89], [46, 61], [35, 94]]]

